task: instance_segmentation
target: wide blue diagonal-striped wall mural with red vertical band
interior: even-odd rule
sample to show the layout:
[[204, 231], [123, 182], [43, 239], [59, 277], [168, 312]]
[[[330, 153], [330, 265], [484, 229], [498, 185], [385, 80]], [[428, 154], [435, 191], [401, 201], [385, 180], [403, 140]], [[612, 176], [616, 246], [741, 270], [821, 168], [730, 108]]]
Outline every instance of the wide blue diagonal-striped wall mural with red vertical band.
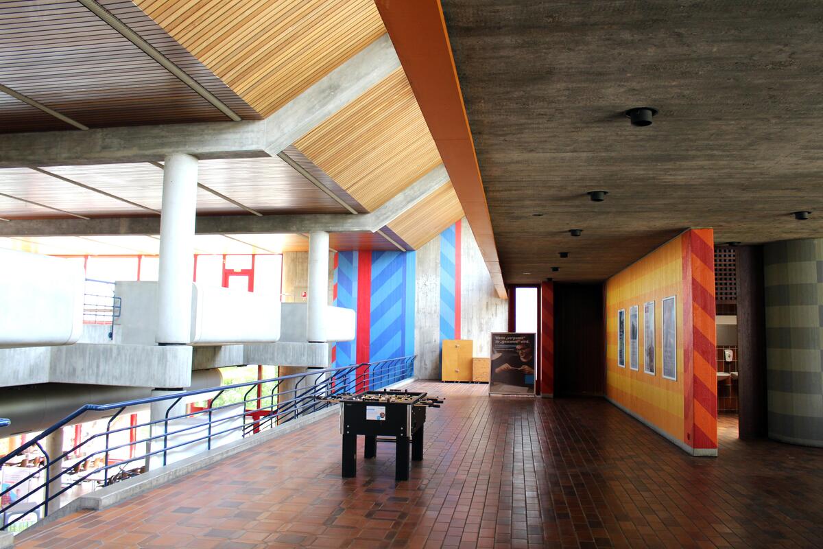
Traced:
[[337, 252], [332, 295], [333, 305], [354, 309], [357, 319], [355, 340], [332, 348], [333, 365], [414, 354], [414, 252]]

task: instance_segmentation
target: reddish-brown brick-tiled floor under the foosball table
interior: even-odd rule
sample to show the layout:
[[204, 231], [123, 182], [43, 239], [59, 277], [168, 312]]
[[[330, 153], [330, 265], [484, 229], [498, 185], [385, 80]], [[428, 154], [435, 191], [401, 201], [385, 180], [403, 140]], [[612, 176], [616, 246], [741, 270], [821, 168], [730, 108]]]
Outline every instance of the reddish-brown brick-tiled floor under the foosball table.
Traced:
[[425, 460], [393, 445], [340, 477], [337, 417], [17, 547], [821, 547], [823, 450], [737, 439], [691, 458], [602, 399], [488, 398], [417, 384]]

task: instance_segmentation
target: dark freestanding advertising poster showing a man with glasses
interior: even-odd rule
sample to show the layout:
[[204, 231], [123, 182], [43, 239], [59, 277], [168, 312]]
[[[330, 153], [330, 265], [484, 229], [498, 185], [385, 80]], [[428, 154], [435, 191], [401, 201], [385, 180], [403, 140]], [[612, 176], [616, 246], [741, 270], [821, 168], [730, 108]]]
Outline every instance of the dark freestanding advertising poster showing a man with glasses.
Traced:
[[489, 394], [534, 394], [535, 333], [492, 333]]

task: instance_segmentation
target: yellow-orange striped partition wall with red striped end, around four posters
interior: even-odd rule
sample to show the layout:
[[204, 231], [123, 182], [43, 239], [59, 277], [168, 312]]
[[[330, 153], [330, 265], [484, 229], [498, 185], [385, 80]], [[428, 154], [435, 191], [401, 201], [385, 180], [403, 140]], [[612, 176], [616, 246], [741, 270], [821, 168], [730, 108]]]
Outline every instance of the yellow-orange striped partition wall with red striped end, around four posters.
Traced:
[[[692, 229], [607, 280], [606, 396], [695, 455], [717, 454], [714, 232]], [[663, 377], [663, 300], [677, 305], [677, 379]], [[644, 357], [644, 305], [654, 302], [654, 373]], [[639, 367], [630, 368], [630, 309], [638, 308]], [[625, 309], [625, 367], [617, 364]]]

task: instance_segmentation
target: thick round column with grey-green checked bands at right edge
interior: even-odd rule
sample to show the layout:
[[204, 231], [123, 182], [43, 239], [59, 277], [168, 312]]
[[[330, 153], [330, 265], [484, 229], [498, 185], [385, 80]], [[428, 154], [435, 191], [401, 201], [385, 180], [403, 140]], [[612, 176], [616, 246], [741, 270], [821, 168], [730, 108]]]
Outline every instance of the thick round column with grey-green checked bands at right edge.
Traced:
[[769, 436], [823, 446], [823, 239], [765, 244], [763, 259]]

